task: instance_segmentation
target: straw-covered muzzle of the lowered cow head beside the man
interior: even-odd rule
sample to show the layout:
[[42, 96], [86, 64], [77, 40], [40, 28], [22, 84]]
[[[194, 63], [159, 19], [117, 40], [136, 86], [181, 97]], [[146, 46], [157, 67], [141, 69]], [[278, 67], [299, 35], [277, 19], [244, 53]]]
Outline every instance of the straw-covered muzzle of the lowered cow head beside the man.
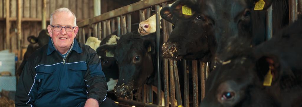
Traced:
[[114, 87], [114, 94], [121, 98], [130, 99], [132, 97], [133, 86], [131, 85], [118, 85]]

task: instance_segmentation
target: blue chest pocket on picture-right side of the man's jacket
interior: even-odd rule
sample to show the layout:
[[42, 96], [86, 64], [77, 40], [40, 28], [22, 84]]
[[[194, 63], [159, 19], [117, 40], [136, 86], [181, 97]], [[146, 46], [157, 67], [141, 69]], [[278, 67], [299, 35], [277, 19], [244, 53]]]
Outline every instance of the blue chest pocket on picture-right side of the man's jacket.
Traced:
[[70, 89], [85, 87], [84, 75], [86, 71], [87, 65], [85, 62], [68, 64], [68, 82]]

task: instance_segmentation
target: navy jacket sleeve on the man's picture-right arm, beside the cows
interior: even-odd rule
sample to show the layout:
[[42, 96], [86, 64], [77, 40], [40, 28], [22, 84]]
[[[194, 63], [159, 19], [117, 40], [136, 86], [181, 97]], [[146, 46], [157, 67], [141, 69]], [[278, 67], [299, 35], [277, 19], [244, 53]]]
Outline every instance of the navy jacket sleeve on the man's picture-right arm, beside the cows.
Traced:
[[101, 60], [97, 53], [89, 48], [89, 60], [87, 61], [87, 72], [85, 83], [87, 87], [87, 97], [98, 100], [99, 104], [105, 101], [108, 91], [106, 78], [101, 67]]

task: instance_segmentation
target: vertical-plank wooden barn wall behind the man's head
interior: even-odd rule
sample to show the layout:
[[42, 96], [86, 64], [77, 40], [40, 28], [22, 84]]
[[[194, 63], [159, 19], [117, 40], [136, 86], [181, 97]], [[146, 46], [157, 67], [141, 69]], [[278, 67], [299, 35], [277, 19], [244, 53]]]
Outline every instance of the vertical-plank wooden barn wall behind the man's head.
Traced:
[[[16, 36], [15, 29], [17, 28], [17, 0], [10, 1], [10, 35], [12, 49], [17, 49], [16, 40], [12, 39]], [[0, 0], [0, 50], [5, 46], [5, 18], [6, 18], [6, 0]], [[43, 0], [21, 0], [21, 46], [27, 46], [29, 42], [27, 37], [30, 35], [37, 36], [41, 30], [41, 17], [42, 17], [42, 2]], [[67, 7], [76, 14], [77, 21], [85, 18], [93, 17], [93, 0], [46, 0], [46, 17], [47, 25], [49, 24], [50, 14], [58, 8]]]

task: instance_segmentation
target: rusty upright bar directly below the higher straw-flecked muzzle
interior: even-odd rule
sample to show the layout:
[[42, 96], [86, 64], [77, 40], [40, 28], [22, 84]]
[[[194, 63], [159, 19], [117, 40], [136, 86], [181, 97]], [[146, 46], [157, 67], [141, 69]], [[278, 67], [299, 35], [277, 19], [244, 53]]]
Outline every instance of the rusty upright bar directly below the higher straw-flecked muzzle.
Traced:
[[174, 73], [173, 73], [173, 61], [169, 60], [170, 66], [170, 102], [171, 107], [175, 107], [175, 83], [174, 83]]

